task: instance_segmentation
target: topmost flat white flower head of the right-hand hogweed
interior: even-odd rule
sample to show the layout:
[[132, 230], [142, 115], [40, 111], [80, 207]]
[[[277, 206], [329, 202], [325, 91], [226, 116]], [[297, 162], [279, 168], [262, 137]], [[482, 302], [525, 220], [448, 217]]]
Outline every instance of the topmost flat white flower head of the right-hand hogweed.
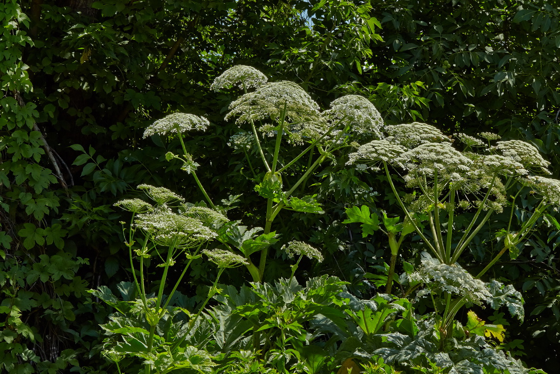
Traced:
[[428, 142], [449, 141], [449, 137], [445, 136], [436, 127], [421, 122], [395, 124], [388, 126], [385, 131], [389, 135], [387, 140], [407, 148], [413, 148]]

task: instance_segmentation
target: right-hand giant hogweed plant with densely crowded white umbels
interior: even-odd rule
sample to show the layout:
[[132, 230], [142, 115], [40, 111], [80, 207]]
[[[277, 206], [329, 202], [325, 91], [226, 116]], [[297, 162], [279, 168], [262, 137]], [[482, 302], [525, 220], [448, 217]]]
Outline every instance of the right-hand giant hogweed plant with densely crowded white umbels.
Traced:
[[[511, 285], [496, 280], [484, 283], [480, 278], [504, 253], [508, 252], [511, 259], [519, 255], [536, 222], [543, 218], [547, 209], [560, 205], [560, 181], [542, 175], [548, 173], [549, 162], [533, 145], [519, 140], [497, 141], [499, 137], [492, 133], [480, 133], [479, 136], [457, 134], [456, 140], [463, 143], [460, 151], [454, 147], [451, 137], [428, 124], [388, 126], [383, 138], [359, 146], [349, 157], [347, 164], [351, 167], [385, 173], [404, 213], [403, 223], [384, 213], [381, 224], [367, 206], [347, 209], [346, 222], [361, 223], [364, 237], [376, 230], [388, 236], [391, 249], [388, 292], [395, 280], [396, 258], [404, 237], [416, 232], [425, 248], [417, 271], [406, 266], [408, 274], [404, 274], [400, 281], [404, 287], [408, 286], [405, 296], [416, 293], [416, 297], [431, 297], [433, 316], [422, 322], [422, 326], [431, 332], [412, 334], [412, 337], [400, 333], [386, 334], [386, 341], [392, 344], [374, 352], [389, 362], [410, 361], [422, 355], [428, 357], [426, 349], [417, 349], [422, 343], [420, 340], [424, 339], [424, 343], [430, 341], [433, 345], [431, 358], [442, 367], [453, 367], [451, 372], [478, 372], [487, 367], [522, 372], [514, 361], [508, 364], [499, 355], [491, 358], [491, 351], [487, 349], [479, 354], [473, 353], [468, 364], [457, 362], [460, 358], [457, 352], [466, 347], [464, 342], [473, 340], [466, 339], [464, 331], [482, 335], [482, 340], [479, 336], [478, 342], [470, 341], [469, 344], [475, 347], [483, 344], [483, 336], [502, 341], [503, 326], [479, 324], [474, 313], [470, 312], [469, 327], [461, 327], [455, 316], [465, 305], [486, 303], [492, 308], [507, 306], [512, 315], [523, 320], [523, 300], [519, 292]], [[399, 193], [394, 182], [397, 176], [404, 179], [405, 187], [412, 192], [404, 196]], [[515, 227], [516, 198], [525, 188], [540, 201], [529, 218]], [[459, 264], [461, 255], [492, 216], [504, 210], [509, 214], [507, 227], [494, 233], [500, 251], [478, 274], [469, 274]], [[465, 213], [470, 218], [468, 223], [457, 224], [465, 221], [457, 219]], [[422, 286], [424, 289], [420, 290]], [[428, 335], [420, 339], [422, 334]], [[437, 339], [425, 340], [434, 336], [429, 334], [435, 334]], [[424, 345], [426, 347], [428, 345]], [[436, 352], [440, 353], [434, 355]], [[486, 358], [482, 357], [483, 353]]]

